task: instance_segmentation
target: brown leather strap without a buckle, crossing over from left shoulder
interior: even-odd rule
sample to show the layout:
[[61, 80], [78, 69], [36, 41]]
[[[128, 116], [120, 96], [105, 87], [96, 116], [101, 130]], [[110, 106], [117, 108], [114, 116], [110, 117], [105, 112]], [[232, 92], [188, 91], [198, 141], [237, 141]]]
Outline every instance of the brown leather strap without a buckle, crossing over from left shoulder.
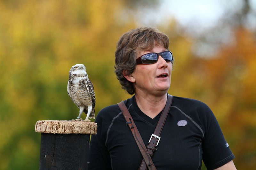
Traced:
[[[145, 162], [145, 166], [146, 168], [148, 167], [148, 169], [152, 169], [152, 170], [156, 170], [156, 167], [155, 165], [153, 164], [153, 161], [151, 159], [151, 157], [148, 155], [148, 152], [147, 152], [147, 148], [140, 136], [140, 133], [132, 119], [132, 116], [131, 114], [129, 113], [129, 110], [127, 109], [127, 107], [125, 106], [124, 102], [120, 102], [118, 103], [118, 106], [119, 108], [121, 109], [123, 115], [124, 115], [124, 118], [126, 120], [126, 125], [128, 124], [131, 131], [132, 131], [132, 135], [137, 143], [137, 145], [139, 146], [139, 149], [140, 149], [140, 152], [142, 154], [142, 157], [143, 157], [143, 161]], [[147, 162], [147, 163], [146, 163]]]

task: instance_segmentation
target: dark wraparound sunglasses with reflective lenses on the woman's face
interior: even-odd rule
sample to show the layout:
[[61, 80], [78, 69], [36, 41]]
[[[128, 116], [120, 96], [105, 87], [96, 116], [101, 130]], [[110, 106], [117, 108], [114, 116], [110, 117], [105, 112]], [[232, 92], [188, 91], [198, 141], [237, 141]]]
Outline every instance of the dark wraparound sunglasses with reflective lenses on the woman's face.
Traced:
[[173, 61], [172, 52], [164, 51], [161, 53], [147, 53], [143, 54], [136, 59], [136, 64], [153, 64], [158, 61], [158, 57], [161, 55], [166, 62]]

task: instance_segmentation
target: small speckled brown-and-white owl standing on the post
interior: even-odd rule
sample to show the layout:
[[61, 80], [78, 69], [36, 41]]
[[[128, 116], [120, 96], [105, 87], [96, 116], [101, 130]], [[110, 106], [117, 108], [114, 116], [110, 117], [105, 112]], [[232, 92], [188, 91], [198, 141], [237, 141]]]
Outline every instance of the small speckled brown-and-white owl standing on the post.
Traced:
[[83, 64], [76, 64], [69, 71], [68, 96], [80, 110], [76, 120], [81, 120], [83, 112], [87, 114], [85, 121], [90, 121], [89, 118], [95, 118], [94, 88]]

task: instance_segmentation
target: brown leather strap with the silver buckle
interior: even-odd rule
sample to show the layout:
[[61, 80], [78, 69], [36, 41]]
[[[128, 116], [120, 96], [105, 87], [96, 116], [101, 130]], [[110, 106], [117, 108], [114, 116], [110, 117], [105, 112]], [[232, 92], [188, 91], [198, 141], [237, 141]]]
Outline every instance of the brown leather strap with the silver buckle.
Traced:
[[[159, 121], [156, 125], [156, 129], [154, 131], [154, 134], [152, 134], [151, 138], [149, 139], [149, 145], [147, 146], [148, 148], [148, 154], [152, 157], [155, 150], [156, 150], [156, 146], [158, 145], [158, 142], [160, 140], [160, 134], [161, 131], [164, 127], [164, 123], [165, 120], [168, 116], [169, 110], [171, 108], [172, 105], [172, 95], [168, 95], [167, 97], [167, 102], [166, 105], [164, 107], [164, 110], [159, 118]], [[147, 169], [147, 165], [145, 163], [144, 160], [142, 160], [141, 164], [140, 164], [140, 170], [146, 170]]]

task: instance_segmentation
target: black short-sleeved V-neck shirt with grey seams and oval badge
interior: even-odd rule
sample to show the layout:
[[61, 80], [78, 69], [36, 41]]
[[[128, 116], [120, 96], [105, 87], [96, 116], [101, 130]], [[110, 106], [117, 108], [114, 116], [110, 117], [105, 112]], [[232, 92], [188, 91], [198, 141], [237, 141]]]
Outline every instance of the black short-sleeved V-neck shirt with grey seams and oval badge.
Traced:
[[[153, 119], [138, 107], [135, 96], [124, 101], [148, 145], [161, 112]], [[118, 105], [102, 109], [95, 122], [97, 135], [90, 143], [89, 169], [138, 169], [142, 155]], [[210, 108], [197, 100], [173, 97], [169, 115], [152, 160], [158, 170], [218, 168], [234, 155]]]

